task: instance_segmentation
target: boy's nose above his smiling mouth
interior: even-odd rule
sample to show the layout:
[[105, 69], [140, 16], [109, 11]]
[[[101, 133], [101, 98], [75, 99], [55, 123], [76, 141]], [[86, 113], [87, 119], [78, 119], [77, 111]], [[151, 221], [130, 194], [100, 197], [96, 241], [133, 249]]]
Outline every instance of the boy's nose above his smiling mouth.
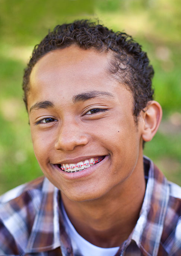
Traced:
[[77, 124], [62, 124], [57, 140], [55, 142], [55, 149], [63, 151], [73, 151], [77, 146], [85, 146], [88, 144], [88, 135], [81, 131]]

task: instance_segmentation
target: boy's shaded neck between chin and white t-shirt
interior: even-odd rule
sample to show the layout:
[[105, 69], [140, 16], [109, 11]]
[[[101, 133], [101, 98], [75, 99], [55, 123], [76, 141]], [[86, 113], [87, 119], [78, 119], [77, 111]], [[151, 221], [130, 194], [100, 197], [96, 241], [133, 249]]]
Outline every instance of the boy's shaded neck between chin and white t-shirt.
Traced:
[[141, 171], [134, 169], [130, 177], [99, 199], [74, 202], [63, 193], [61, 196], [70, 221], [83, 238], [99, 247], [117, 247], [136, 225], [145, 186], [142, 163]]

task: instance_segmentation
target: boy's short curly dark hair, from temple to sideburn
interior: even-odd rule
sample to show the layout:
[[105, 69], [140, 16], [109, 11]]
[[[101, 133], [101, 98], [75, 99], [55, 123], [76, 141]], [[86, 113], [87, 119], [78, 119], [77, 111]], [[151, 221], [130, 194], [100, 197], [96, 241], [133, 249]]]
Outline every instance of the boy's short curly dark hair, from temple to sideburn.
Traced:
[[24, 71], [23, 90], [27, 109], [27, 93], [29, 77], [36, 62], [46, 53], [69, 47], [72, 44], [83, 49], [110, 51], [112, 58], [109, 72], [123, 83], [133, 93], [133, 115], [137, 117], [150, 100], [153, 100], [152, 78], [153, 68], [149, 64], [147, 54], [142, 46], [136, 43], [130, 35], [114, 32], [99, 22], [78, 20], [70, 24], [57, 25], [52, 32], [37, 44], [32, 57]]

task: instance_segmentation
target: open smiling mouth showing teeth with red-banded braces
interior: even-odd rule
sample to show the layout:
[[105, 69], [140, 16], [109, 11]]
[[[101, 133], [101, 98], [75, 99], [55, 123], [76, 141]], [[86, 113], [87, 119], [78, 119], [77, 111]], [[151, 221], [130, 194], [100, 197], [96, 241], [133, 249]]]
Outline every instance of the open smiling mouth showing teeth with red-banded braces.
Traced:
[[65, 172], [81, 172], [86, 168], [89, 168], [92, 165], [96, 165], [97, 163], [101, 162], [104, 159], [105, 156], [101, 157], [95, 157], [95, 158], [90, 158], [85, 161], [81, 161], [79, 163], [62, 163], [62, 164], [57, 164], [58, 168], [60, 168], [62, 171]]

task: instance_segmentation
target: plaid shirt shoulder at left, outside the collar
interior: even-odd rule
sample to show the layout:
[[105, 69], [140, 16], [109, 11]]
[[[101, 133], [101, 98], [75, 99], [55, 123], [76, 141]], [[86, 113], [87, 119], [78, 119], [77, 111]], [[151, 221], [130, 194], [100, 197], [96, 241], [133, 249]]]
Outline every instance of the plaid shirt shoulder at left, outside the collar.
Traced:
[[0, 255], [23, 252], [41, 204], [44, 179], [20, 185], [0, 197]]

